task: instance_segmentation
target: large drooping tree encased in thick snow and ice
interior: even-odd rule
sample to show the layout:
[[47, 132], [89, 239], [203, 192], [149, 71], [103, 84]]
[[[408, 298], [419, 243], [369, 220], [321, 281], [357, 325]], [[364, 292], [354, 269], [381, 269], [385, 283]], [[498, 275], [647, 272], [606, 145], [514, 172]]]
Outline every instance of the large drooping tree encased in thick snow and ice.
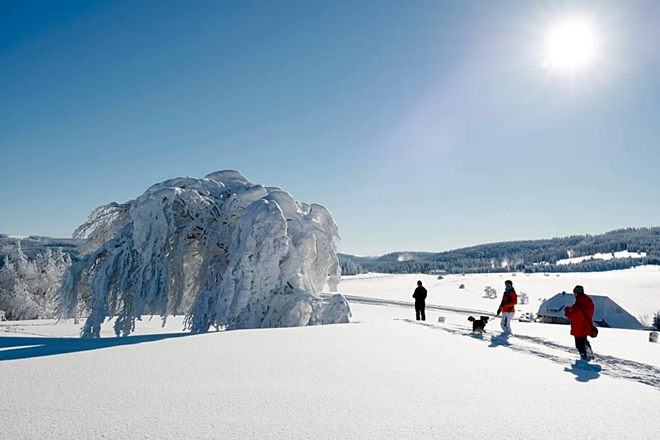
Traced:
[[186, 314], [192, 332], [348, 322], [338, 227], [329, 211], [237, 171], [175, 178], [125, 204], [100, 206], [74, 232], [84, 255], [62, 281], [60, 315], [107, 316], [128, 335], [143, 314]]

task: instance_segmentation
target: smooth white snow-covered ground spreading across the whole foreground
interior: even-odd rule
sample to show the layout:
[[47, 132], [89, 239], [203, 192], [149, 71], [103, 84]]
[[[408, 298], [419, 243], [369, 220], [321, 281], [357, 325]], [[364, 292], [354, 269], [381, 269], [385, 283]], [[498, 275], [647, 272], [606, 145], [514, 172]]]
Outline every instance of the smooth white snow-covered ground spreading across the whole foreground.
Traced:
[[[417, 279], [427, 321], [414, 320]], [[660, 271], [366, 274], [344, 277], [351, 324], [189, 335], [182, 317], [80, 340], [72, 321], [0, 323], [0, 439], [654, 439], [660, 344], [602, 328], [596, 359], [575, 364], [568, 326], [513, 321], [470, 333], [512, 279], [539, 298], [609, 295], [631, 314], [660, 309]], [[464, 284], [465, 288], [458, 286]], [[439, 317], [445, 319], [438, 322]], [[107, 338], [106, 338], [107, 336]]]

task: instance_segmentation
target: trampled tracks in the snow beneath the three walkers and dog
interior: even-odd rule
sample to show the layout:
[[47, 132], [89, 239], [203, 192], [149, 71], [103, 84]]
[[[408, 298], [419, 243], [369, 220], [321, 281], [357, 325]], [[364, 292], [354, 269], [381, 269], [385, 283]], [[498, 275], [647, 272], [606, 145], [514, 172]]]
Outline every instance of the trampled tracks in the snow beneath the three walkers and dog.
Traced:
[[[412, 302], [396, 301], [396, 300], [382, 300], [376, 298], [363, 298], [359, 296], [343, 295], [348, 302], [358, 302], [360, 304], [395, 306], [395, 307], [411, 307]], [[442, 310], [445, 312], [454, 312], [461, 314], [488, 314], [482, 310], [463, 309], [459, 307], [442, 307], [439, 305], [426, 305], [426, 309]], [[501, 334], [485, 334], [472, 333], [467, 326], [454, 326], [451, 324], [435, 324], [429, 321], [416, 321], [414, 319], [399, 319], [408, 324], [416, 324], [433, 328], [434, 330], [442, 330], [452, 333], [454, 335], [468, 336], [477, 340], [488, 342], [490, 347], [507, 347], [516, 352], [529, 354], [532, 356], [539, 356], [548, 361], [560, 365], [570, 365], [573, 363], [573, 368], [580, 368], [593, 371], [595, 377], [599, 373], [608, 375], [612, 378], [634, 380], [644, 385], [649, 385], [660, 390], [660, 368], [644, 364], [638, 361], [631, 361], [628, 359], [621, 359], [616, 356], [596, 355], [596, 364], [588, 364], [586, 368], [576, 366], [575, 348], [567, 345], [562, 345], [557, 342], [540, 338], [538, 336], [529, 335], [501, 335]], [[599, 369], [600, 368], [600, 369]], [[570, 368], [566, 368], [570, 371]]]

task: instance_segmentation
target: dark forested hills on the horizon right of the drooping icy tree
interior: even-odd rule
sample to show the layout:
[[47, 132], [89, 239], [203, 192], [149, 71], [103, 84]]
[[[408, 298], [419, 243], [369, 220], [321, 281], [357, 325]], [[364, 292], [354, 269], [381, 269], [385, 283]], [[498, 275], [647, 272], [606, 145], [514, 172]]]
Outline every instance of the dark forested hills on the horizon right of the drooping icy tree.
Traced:
[[[641, 258], [589, 259], [557, 265], [557, 261], [597, 253], [646, 253]], [[543, 240], [503, 241], [440, 253], [393, 252], [381, 257], [341, 254], [366, 272], [450, 274], [487, 272], [604, 272], [638, 265], [660, 265], [660, 227], [616, 229], [600, 235], [574, 235]]]

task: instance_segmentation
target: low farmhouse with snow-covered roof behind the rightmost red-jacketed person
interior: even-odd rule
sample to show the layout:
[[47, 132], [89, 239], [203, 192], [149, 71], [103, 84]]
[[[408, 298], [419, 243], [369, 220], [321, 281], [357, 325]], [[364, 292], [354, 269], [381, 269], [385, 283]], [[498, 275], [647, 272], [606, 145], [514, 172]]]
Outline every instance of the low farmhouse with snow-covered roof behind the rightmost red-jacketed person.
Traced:
[[[608, 296], [589, 296], [593, 300], [593, 323], [596, 326], [634, 329], [643, 327], [635, 316], [626, 312], [623, 307], [616, 304]], [[575, 298], [572, 293], [557, 293], [557, 295], [548, 298], [541, 304], [536, 321], [550, 324], [570, 324], [569, 319], [564, 316], [564, 307], [572, 305], [574, 302]]]

